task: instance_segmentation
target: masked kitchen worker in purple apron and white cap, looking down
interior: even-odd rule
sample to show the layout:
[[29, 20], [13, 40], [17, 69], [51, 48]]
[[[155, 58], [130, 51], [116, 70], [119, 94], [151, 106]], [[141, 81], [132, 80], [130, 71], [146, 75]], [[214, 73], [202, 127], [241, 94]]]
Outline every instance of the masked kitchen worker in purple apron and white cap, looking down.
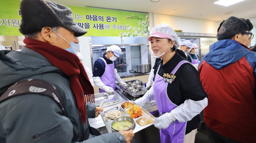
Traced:
[[106, 55], [94, 62], [93, 80], [99, 87], [99, 92], [112, 93], [116, 90], [116, 81], [121, 85], [126, 84], [117, 74], [114, 65], [114, 60], [119, 57], [122, 50], [117, 45], [111, 45], [106, 52]]

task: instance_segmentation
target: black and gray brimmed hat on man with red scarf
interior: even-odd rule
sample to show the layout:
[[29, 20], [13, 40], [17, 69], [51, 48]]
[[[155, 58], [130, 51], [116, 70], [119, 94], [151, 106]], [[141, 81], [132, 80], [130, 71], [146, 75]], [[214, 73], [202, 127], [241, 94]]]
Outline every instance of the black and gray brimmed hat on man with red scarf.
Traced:
[[22, 0], [20, 3], [22, 21], [20, 33], [23, 35], [41, 31], [44, 27], [63, 26], [74, 31], [76, 37], [87, 33], [76, 25], [70, 8], [44, 0]]

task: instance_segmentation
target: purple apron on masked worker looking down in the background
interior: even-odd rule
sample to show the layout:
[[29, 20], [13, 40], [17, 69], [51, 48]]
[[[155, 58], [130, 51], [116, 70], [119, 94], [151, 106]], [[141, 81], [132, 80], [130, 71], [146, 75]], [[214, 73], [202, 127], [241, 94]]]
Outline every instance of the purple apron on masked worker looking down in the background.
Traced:
[[[115, 77], [115, 65], [114, 61], [113, 64], [107, 64], [106, 60], [102, 57], [99, 57], [99, 59], [102, 59], [106, 65], [105, 72], [101, 76], [101, 81], [109, 87], [112, 87], [114, 90], [116, 90], [116, 77]], [[99, 88], [99, 92], [105, 92], [104, 90]]]

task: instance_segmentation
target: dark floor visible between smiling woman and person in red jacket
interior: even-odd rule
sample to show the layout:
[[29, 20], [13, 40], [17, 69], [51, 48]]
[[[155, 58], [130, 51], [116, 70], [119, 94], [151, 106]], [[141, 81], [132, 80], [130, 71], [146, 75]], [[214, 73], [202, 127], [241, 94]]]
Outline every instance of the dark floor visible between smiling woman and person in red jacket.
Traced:
[[210, 140], [206, 131], [206, 124], [202, 123], [202, 127], [196, 133], [195, 143], [210, 143]]

